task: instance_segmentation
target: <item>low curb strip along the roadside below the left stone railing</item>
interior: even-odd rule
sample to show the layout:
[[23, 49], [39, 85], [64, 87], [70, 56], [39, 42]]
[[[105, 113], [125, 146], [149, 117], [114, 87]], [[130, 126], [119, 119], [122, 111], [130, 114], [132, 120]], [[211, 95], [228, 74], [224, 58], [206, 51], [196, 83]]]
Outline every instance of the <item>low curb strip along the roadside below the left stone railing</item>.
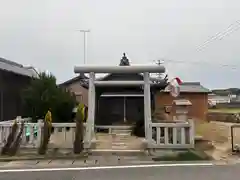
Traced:
[[12, 156], [12, 157], [1, 157], [0, 162], [10, 162], [10, 161], [26, 161], [26, 160], [75, 160], [75, 159], [85, 159], [87, 154], [83, 155], [69, 155], [69, 156]]

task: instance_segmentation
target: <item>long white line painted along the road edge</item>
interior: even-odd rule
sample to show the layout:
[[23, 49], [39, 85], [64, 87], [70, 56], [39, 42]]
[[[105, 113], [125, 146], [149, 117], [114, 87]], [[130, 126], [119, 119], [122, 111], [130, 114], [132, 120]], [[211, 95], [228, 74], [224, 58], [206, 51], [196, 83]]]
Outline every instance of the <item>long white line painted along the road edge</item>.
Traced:
[[192, 163], [192, 164], [145, 164], [125, 166], [93, 166], [73, 168], [39, 168], [39, 169], [1, 169], [0, 173], [8, 172], [47, 172], [47, 171], [83, 171], [83, 170], [104, 170], [104, 169], [127, 169], [127, 168], [150, 168], [150, 167], [186, 167], [186, 166], [214, 166], [213, 163]]

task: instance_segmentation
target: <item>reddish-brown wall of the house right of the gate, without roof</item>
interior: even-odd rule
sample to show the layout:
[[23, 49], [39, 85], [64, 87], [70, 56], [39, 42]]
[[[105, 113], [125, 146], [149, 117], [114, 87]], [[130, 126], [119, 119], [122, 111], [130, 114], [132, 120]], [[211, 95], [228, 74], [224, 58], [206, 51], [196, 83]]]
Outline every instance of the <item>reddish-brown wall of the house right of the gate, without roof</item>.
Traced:
[[[206, 119], [208, 112], [208, 95], [206, 93], [181, 93], [179, 99], [187, 99], [192, 103], [189, 108], [189, 116], [197, 119]], [[171, 106], [174, 98], [165, 92], [159, 92], [155, 96], [156, 110], [164, 106]], [[171, 111], [173, 115], [174, 112]]]

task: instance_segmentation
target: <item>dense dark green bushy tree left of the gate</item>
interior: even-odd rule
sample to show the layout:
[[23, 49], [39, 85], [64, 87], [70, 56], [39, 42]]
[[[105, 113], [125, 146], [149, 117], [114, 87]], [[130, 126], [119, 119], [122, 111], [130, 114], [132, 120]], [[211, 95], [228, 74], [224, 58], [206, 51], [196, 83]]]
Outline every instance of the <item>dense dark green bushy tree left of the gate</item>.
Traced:
[[44, 119], [51, 109], [54, 122], [71, 121], [72, 109], [76, 104], [75, 97], [57, 86], [52, 74], [42, 72], [38, 79], [32, 79], [29, 87], [22, 94], [24, 115], [36, 122]]

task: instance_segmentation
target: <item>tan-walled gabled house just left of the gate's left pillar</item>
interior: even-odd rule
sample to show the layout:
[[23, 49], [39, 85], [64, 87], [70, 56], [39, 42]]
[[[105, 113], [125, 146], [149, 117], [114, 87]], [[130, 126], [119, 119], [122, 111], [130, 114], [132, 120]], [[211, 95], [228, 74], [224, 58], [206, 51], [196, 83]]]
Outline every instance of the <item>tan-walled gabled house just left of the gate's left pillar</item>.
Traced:
[[80, 75], [59, 84], [59, 87], [74, 93], [77, 102], [81, 102], [88, 106], [88, 89], [85, 86], [82, 86], [82, 83], [85, 84], [85, 81], [87, 80], [88, 77]]

